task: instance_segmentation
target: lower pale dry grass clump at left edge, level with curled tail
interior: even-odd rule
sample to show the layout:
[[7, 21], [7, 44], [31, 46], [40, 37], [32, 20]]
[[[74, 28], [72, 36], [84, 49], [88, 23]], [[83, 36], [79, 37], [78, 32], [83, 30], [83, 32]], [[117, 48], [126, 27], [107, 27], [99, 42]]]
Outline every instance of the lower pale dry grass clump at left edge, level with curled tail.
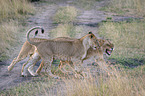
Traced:
[[15, 35], [18, 33], [18, 23], [16, 21], [10, 21], [9, 23], [2, 23], [0, 26], [0, 54], [1, 58], [9, 56], [11, 47], [14, 47], [18, 42], [18, 36]]

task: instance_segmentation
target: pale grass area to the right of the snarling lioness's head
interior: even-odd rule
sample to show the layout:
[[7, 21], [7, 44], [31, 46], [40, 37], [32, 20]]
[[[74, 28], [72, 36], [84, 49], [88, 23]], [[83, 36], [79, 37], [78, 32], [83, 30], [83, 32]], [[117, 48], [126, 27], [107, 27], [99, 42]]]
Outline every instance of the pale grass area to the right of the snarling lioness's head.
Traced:
[[145, 23], [143, 21], [107, 22], [99, 29], [100, 36], [110, 38], [115, 45], [111, 56], [118, 63], [137, 66], [145, 63]]

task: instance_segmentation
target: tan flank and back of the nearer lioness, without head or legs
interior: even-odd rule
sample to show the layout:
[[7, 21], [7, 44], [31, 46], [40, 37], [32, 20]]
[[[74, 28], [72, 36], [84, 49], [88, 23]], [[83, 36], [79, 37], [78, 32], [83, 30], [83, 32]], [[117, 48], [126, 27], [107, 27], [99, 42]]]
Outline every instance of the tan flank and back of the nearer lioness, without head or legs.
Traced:
[[[46, 56], [47, 54], [49, 54], [50, 56], [55, 55], [66, 57], [71, 56], [80, 57], [80, 54], [83, 54], [84, 51], [83, 49], [84, 47], [81, 45], [81, 41], [79, 40], [72, 41], [59, 40], [57, 42], [55, 40], [49, 40], [49, 42], [46, 41], [46, 43], [44, 41], [43, 43], [39, 44], [39, 46], [37, 46], [37, 50], [41, 52], [43, 55], [46, 54]], [[44, 51], [46, 50], [46, 48], [47, 51]]]

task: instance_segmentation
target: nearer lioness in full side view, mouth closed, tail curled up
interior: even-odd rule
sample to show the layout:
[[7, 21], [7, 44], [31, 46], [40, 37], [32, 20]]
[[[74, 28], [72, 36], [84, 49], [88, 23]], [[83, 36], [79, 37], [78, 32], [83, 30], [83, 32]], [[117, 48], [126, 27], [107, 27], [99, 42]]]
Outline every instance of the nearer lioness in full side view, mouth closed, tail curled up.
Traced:
[[48, 66], [49, 75], [55, 77], [55, 75], [51, 73], [53, 57], [58, 57], [60, 60], [71, 59], [72, 61], [75, 61], [77, 59], [81, 61], [86, 57], [87, 50], [90, 47], [92, 47], [93, 50], [96, 50], [99, 45], [97, 38], [91, 32], [86, 36], [75, 40], [46, 40], [43, 42], [34, 42], [29, 38], [30, 32], [34, 29], [43, 30], [41, 27], [35, 27], [27, 32], [27, 41], [30, 44], [35, 45], [37, 50], [29, 60], [29, 64], [24, 67], [24, 71], [22, 72], [23, 75], [26, 74], [27, 68], [32, 66], [33, 62], [40, 56], [44, 61], [44, 64]]

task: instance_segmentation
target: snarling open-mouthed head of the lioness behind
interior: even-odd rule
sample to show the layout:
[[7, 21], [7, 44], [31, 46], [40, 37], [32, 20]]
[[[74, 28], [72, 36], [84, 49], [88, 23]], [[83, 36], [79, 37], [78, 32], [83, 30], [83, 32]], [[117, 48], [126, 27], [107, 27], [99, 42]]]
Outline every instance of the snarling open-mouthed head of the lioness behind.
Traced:
[[103, 51], [107, 56], [110, 56], [113, 49], [114, 44], [112, 44], [109, 40], [98, 39], [100, 46], [102, 46]]

